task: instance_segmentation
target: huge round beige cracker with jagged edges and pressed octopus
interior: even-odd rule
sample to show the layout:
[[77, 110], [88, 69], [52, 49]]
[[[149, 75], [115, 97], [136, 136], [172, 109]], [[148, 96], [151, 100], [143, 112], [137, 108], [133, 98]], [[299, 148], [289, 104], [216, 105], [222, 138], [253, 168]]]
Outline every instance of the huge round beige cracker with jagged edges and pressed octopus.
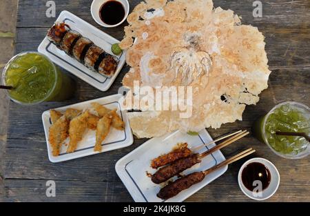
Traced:
[[[128, 113], [137, 137], [220, 128], [242, 120], [245, 106], [258, 103], [268, 87], [264, 36], [258, 28], [241, 25], [232, 10], [214, 8], [211, 0], [147, 0], [127, 20], [130, 26], [120, 46], [127, 50], [132, 69], [123, 86], [133, 91], [138, 81], [154, 88], [194, 89], [190, 118], [180, 118], [178, 111]], [[197, 67], [189, 71], [184, 65]]]

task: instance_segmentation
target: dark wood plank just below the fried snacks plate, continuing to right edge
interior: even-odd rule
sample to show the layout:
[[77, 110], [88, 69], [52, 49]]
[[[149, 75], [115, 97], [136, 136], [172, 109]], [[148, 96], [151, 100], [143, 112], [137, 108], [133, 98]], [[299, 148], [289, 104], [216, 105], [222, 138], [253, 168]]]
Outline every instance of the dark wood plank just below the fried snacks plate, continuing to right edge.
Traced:
[[[74, 181], [119, 181], [114, 170], [114, 164], [118, 159], [137, 148], [143, 140], [137, 140], [134, 146], [115, 150], [110, 153], [102, 153], [91, 157], [75, 159], [60, 164], [52, 164], [48, 161], [45, 142], [12, 140], [11, 148], [7, 148], [7, 156], [4, 161], [6, 170], [5, 179], [56, 179]], [[223, 150], [226, 157], [234, 155], [246, 148], [254, 148], [257, 152], [253, 157], [264, 157], [272, 161], [278, 168], [283, 185], [310, 186], [309, 173], [310, 158], [288, 162], [274, 155], [269, 147], [261, 144], [253, 137], [245, 137]], [[223, 177], [216, 180], [217, 184], [236, 184], [238, 170], [247, 159], [242, 159], [229, 167]]]

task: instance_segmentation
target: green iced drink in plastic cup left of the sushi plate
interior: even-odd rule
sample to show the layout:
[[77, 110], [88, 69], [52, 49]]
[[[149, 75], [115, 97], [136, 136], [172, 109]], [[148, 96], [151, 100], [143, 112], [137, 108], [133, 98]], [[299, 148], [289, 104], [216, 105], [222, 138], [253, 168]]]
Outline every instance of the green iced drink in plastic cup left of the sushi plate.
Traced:
[[8, 96], [23, 105], [64, 101], [75, 91], [74, 80], [39, 52], [14, 56], [3, 69], [2, 85], [12, 86], [12, 90], [6, 90]]

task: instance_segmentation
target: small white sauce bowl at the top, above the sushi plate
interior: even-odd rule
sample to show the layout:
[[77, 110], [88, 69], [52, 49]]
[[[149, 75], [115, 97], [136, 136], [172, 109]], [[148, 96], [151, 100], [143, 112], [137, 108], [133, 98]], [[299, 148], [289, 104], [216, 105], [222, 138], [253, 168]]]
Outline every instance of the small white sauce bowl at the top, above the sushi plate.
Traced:
[[127, 17], [128, 14], [130, 12], [130, 4], [127, 0], [114, 0], [114, 1], [119, 1], [122, 3], [122, 5], [125, 8], [125, 17], [124, 19], [120, 22], [117, 23], [116, 25], [107, 25], [107, 23], [104, 23], [101, 19], [100, 19], [100, 8], [103, 5], [103, 3], [105, 3], [106, 1], [111, 1], [111, 0], [94, 0], [92, 1], [92, 6], [90, 7], [90, 12], [92, 13], [92, 18], [94, 19], [94, 21], [96, 21], [96, 23], [98, 23], [100, 26], [103, 26], [105, 28], [114, 28], [116, 26], [121, 25], [121, 23], [123, 23]]

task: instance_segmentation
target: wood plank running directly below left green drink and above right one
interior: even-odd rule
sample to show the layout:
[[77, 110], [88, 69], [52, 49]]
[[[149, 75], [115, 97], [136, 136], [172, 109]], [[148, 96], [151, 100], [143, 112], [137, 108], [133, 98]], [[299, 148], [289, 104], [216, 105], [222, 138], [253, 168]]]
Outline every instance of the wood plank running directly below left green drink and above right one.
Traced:
[[[124, 69], [126, 70], [126, 69]], [[10, 104], [10, 126], [8, 133], [8, 146], [12, 141], [10, 139], [34, 139], [45, 140], [44, 130], [42, 127], [41, 115], [45, 110], [66, 106], [68, 104], [76, 104], [79, 101], [87, 101], [94, 98], [112, 95], [117, 92], [121, 86], [121, 76], [113, 84], [112, 90], [109, 92], [100, 92], [95, 90], [88, 84], [79, 80], [81, 87], [76, 92], [76, 97], [69, 101], [61, 103], [45, 103], [40, 106], [30, 106], [25, 109], [18, 104]], [[282, 68], [274, 70], [269, 80], [269, 88], [260, 95], [260, 102], [256, 106], [248, 106], [243, 115], [242, 122], [224, 125], [219, 130], [210, 130], [214, 137], [219, 136], [220, 132], [224, 133], [236, 128], [251, 128], [251, 125], [273, 106], [282, 101], [298, 101], [307, 105], [309, 104], [309, 80], [310, 68]]]

